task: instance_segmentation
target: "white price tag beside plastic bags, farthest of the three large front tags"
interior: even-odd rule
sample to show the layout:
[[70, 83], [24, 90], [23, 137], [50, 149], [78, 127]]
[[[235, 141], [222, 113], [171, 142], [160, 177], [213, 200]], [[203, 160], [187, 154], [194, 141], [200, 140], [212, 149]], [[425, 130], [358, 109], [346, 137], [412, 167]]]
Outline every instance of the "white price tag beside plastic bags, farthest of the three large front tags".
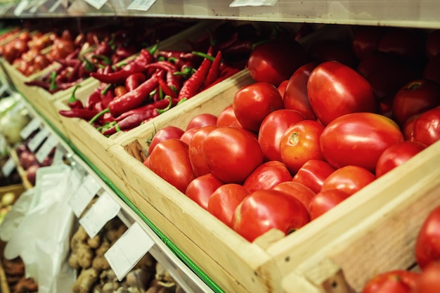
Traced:
[[84, 178], [77, 192], [69, 200], [69, 205], [78, 218], [100, 189], [101, 185], [90, 174]]

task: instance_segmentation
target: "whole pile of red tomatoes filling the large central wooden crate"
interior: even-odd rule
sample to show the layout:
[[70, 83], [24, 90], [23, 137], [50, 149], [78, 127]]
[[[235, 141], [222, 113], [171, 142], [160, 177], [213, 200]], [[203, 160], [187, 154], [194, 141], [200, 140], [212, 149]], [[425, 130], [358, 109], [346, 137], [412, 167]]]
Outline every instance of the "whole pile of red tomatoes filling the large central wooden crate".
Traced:
[[261, 44], [255, 82], [218, 116], [157, 131], [144, 164], [250, 242], [291, 233], [439, 140], [440, 81], [426, 73], [439, 35]]

